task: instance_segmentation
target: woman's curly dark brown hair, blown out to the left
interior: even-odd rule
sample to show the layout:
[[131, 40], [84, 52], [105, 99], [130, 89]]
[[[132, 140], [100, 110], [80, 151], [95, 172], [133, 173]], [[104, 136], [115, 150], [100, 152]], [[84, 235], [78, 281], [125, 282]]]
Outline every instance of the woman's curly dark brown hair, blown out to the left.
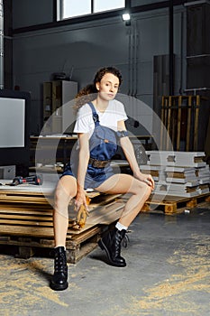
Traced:
[[106, 73], [112, 73], [115, 77], [117, 77], [119, 79], [119, 86], [121, 86], [123, 78], [119, 70], [114, 67], [104, 67], [100, 70], [97, 70], [93, 83], [87, 85], [78, 92], [75, 104], [76, 110], [78, 110], [79, 107], [84, 106], [84, 104], [87, 102], [93, 101], [96, 98], [96, 83], [100, 82]]

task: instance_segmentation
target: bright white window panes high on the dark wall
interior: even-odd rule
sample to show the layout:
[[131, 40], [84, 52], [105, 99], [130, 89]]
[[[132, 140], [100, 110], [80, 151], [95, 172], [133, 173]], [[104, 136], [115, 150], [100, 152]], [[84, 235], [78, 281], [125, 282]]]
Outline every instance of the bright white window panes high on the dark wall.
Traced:
[[86, 14], [96, 14], [105, 11], [121, 9], [125, 0], [57, 0], [57, 18], [64, 20]]

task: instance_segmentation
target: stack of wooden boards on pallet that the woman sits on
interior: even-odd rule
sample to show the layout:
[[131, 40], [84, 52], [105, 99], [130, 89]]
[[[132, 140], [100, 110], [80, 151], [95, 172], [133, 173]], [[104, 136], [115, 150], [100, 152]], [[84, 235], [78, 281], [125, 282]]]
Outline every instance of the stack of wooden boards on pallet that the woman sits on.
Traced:
[[[1, 181], [4, 182], [4, 181]], [[74, 203], [69, 205], [67, 234], [68, 262], [76, 263], [97, 246], [101, 234], [120, 218], [121, 195], [87, 193], [91, 200], [84, 228], [77, 228]], [[18, 256], [29, 257], [38, 248], [54, 246], [53, 191], [42, 186], [22, 184], [0, 187], [0, 245], [18, 246]], [[48, 252], [50, 253], [50, 252]]]

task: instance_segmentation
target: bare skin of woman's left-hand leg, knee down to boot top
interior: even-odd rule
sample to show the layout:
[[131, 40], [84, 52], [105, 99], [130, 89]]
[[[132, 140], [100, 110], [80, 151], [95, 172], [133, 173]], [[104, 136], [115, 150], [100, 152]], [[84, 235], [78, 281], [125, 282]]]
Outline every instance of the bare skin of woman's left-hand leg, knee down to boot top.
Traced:
[[55, 246], [65, 246], [68, 230], [68, 205], [77, 194], [77, 181], [72, 176], [63, 176], [55, 191], [53, 227]]

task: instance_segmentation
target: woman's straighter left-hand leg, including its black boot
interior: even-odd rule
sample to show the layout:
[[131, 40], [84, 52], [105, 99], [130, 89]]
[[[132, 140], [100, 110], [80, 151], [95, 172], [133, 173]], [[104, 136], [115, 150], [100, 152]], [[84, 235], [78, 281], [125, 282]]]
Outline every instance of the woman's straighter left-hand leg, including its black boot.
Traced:
[[50, 281], [50, 288], [62, 291], [68, 288], [68, 265], [66, 256], [66, 237], [68, 230], [68, 204], [77, 193], [77, 182], [72, 176], [63, 176], [55, 192], [53, 214], [54, 226], [54, 274]]

